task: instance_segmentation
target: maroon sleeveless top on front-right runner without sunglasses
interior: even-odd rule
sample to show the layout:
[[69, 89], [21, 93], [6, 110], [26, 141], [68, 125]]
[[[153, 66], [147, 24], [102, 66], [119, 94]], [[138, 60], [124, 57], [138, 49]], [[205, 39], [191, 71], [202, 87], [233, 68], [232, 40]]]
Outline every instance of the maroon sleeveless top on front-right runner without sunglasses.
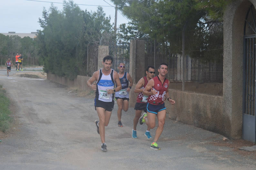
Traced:
[[163, 101], [165, 100], [164, 95], [168, 89], [169, 80], [164, 78], [164, 81], [162, 83], [158, 76], [154, 77], [153, 80], [154, 80], [153, 90], [157, 91], [157, 94], [150, 95], [148, 97], [148, 103], [153, 105], [163, 104]]

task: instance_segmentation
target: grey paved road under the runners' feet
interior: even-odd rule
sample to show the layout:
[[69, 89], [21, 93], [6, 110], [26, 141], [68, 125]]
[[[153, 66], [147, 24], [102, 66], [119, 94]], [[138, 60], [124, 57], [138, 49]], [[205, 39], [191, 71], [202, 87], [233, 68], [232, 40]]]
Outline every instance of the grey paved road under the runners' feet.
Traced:
[[[132, 139], [133, 108], [117, 126], [117, 105], [106, 128], [108, 152], [100, 152], [93, 99], [78, 98], [48, 80], [0, 75], [0, 84], [19, 108], [20, 131], [0, 144], [1, 170], [255, 170], [255, 158], [209, 142], [222, 136], [166, 119], [159, 140], [162, 150], [150, 149], [138, 125]], [[21, 90], [20, 90], [21, 89]], [[152, 130], [154, 135], [155, 130]]]

